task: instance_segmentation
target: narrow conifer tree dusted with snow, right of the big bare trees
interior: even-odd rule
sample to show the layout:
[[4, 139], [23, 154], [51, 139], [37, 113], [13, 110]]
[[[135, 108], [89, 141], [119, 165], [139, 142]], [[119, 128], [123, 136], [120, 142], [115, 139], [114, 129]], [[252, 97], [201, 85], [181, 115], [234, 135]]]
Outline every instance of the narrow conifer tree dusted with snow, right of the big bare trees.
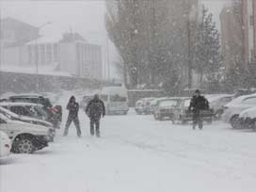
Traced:
[[210, 91], [216, 91], [223, 79], [224, 68], [219, 37], [213, 14], [203, 7], [201, 22], [197, 28], [193, 67], [200, 73], [200, 83], [206, 81]]

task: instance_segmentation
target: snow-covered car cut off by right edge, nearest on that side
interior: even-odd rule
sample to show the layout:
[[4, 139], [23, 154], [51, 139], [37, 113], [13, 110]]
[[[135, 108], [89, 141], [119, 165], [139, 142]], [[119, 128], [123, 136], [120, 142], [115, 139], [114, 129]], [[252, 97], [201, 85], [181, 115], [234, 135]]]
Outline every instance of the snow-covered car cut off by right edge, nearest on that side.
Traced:
[[256, 130], [256, 105], [248, 108], [239, 114], [241, 128]]

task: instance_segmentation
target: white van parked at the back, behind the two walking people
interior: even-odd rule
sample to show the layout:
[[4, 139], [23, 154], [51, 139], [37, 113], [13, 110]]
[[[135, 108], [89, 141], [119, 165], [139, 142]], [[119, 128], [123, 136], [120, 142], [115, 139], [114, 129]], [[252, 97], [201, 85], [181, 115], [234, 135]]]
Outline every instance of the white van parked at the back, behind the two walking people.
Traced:
[[105, 87], [100, 92], [100, 98], [108, 115], [126, 115], [129, 111], [127, 89], [123, 87]]

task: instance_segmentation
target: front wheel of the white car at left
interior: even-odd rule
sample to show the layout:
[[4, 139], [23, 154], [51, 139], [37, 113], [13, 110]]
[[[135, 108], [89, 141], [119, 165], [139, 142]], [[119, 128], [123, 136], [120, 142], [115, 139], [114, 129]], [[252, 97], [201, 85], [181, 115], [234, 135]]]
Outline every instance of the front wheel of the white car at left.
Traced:
[[34, 136], [18, 136], [13, 142], [13, 152], [16, 153], [33, 153], [36, 151]]

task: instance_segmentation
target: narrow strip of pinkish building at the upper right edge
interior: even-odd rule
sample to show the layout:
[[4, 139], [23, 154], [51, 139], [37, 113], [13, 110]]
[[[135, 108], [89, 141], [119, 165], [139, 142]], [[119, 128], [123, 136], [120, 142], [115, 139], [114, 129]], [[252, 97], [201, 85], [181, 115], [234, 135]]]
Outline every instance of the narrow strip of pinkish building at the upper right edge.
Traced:
[[256, 1], [242, 0], [244, 57], [246, 63], [256, 60]]

